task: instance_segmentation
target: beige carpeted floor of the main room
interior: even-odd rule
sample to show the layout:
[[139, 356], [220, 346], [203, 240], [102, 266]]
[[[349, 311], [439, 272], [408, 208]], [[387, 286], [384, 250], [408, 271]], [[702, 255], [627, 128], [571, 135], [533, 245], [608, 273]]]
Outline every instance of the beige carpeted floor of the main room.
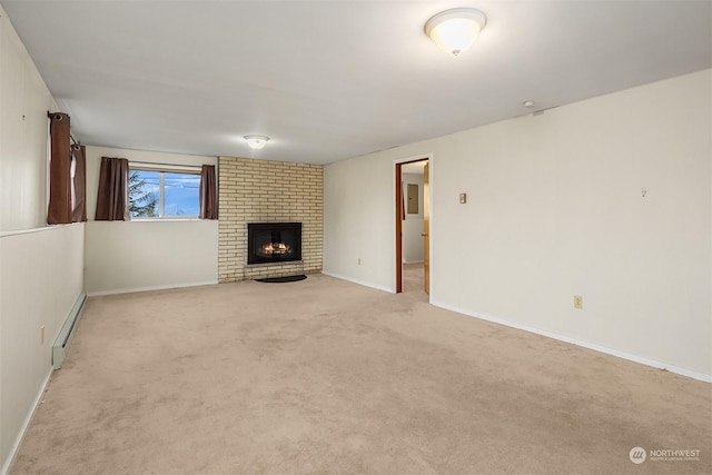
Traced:
[[[90, 298], [12, 474], [709, 474], [711, 386], [323, 275]], [[645, 461], [630, 451], [701, 451]]]

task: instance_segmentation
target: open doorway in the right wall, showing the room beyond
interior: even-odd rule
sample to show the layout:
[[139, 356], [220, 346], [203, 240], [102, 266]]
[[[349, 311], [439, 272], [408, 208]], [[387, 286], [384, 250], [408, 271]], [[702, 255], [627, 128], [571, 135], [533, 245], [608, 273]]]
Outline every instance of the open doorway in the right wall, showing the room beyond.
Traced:
[[429, 294], [429, 159], [395, 164], [396, 294]]

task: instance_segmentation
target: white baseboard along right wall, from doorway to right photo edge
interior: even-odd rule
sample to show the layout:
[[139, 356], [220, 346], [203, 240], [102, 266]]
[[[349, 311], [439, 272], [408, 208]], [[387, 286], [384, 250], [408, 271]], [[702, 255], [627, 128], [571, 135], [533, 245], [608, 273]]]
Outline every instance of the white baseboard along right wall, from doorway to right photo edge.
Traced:
[[481, 313], [474, 313], [471, 310], [466, 310], [464, 308], [458, 308], [452, 305], [447, 305], [444, 304], [442, 301], [437, 301], [437, 300], [431, 300], [431, 304], [436, 306], [436, 307], [441, 307], [444, 308], [446, 310], [452, 310], [452, 311], [456, 311], [458, 314], [463, 314], [463, 315], [467, 315], [468, 317], [475, 317], [475, 318], [479, 318], [482, 320], [487, 320], [487, 321], [492, 321], [495, 324], [500, 324], [500, 325], [504, 325], [507, 327], [512, 327], [512, 328], [516, 328], [516, 329], [521, 329], [524, 331], [530, 331], [533, 334], [537, 334], [537, 335], [542, 335], [548, 338], [554, 338], [561, 342], [565, 342], [565, 343], [570, 343], [572, 345], [576, 345], [576, 346], [582, 346], [584, 348], [589, 348], [589, 349], [593, 349], [595, 352], [601, 352], [601, 353], [605, 353], [607, 355], [611, 356], [616, 356], [619, 358], [623, 358], [623, 359], [627, 359], [634, 363], [640, 363], [642, 365], [646, 365], [646, 366], [652, 366], [654, 368], [659, 368], [659, 369], [665, 369], [670, 373], [675, 373], [679, 374], [681, 376], [686, 376], [693, 379], [698, 379], [704, 383], [712, 383], [712, 375], [705, 375], [704, 373], [698, 373], [698, 372], [693, 372], [691, 369], [686, 369], [686, 368], [681, 368], [679, 366], [673, 366], [670, 365], [668, 363], [663, 363], [663, 362], [659, 362], [655, 359], [650, 359], [650, 358], [645, 358], [643, 356], [637, 356], [637, 355], [633, 355], [631, 353], [625, 353], [625, 352], [621, 352], [619, 349], [613, 349], [613, 348], [609, 348], [606, 346], [603, 345], [599, 345], [595, 343], [590, 343], [590, 342], [584, 342], [577, 338], [572, 338], [568, 336], [564, 336], [564, 335], [560, 335], [553, 331], [547, 331], [547, 330], [543, 330], [536, 327], [531, 327], [528, 325], [522, 325], [522, 324], [517, 324], [515, 321], [510, 321], [510, 320], [505, 320], [503, 318], [498, 318], [498, 317], [493, 317], [492, 315], [486, 315], [486, 314], [481, 314]]

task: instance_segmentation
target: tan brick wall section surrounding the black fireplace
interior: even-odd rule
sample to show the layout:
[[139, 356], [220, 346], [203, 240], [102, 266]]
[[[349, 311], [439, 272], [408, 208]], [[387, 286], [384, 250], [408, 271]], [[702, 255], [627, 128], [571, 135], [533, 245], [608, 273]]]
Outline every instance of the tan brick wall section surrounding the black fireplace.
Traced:
[[[218, 280], [322, 271], [324, 168], [220, 157]], [[301, 222], [301, 261], [247, 265], [248, 222]]]

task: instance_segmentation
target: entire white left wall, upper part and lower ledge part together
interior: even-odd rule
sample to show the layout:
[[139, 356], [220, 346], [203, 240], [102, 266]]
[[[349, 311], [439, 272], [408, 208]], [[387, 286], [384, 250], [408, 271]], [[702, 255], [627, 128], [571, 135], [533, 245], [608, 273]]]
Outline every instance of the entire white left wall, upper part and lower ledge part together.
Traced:
[[0, 8], [0, 473], [83, 287], [85, 225], [46, 226], [48, 110], [57, 105]]

